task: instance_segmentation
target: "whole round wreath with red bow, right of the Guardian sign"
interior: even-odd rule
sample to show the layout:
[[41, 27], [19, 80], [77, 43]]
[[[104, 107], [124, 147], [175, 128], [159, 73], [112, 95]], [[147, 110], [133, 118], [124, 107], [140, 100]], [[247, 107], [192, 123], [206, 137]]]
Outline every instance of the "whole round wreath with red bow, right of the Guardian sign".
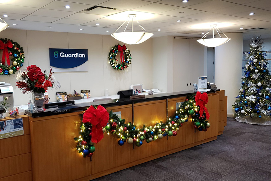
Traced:
[[[118, 52], [120, 53], [120, 61], [116, 59]], [[129, 64], [131, 64], [132, 59], [130, 50], [128, 50], [125, 45], [112, 46], [108, 58], [112, 68], [116, 70], [125, 70], [127, 67], [129, 67]]]

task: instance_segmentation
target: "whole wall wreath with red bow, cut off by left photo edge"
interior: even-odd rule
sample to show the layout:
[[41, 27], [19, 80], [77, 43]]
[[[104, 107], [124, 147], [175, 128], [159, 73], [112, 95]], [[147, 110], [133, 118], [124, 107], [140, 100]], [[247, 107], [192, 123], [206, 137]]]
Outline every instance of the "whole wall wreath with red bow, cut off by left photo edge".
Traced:
[[[0, 75], [15, 74], [23, 66], [25, 58], [23, 47], [10, 39], [0, 38], [0, 50], [3, 50], [2, 58], [0, 57]], [[12, 56], [11, 60], [9, 56]]]

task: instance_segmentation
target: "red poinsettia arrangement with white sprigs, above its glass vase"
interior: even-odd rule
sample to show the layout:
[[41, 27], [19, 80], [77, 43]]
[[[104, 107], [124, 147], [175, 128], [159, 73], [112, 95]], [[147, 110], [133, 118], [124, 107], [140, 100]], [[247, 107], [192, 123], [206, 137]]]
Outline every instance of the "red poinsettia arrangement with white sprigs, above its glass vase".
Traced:
[[26, 71], [19, 72], [16, 76], [17, 87], [20, 88], [23, 94], [29, 92], [45, 93], [48, 87], [60, 88], [58, 81], [55, 81], [52, 68], [47, 75], [47, 72], [42, 72], [36, 65], [26, 67]]

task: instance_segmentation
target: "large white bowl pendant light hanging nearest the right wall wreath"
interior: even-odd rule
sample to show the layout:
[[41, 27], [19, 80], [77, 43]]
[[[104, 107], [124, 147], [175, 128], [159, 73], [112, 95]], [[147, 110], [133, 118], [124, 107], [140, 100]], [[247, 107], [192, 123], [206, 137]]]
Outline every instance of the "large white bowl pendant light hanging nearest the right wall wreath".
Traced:
[[128, 21], [126, 27], [125, 27], [125, 30], [128, 27], [129, 22], [131, 21], [132, 31], [131, 32], [125, 32], [125, 30], [124, 30], [123, 32], [115, 33], [124, 23], [127, 22], [127, 21], [125, 21], [114, 33], [111, 34], [112, 37], [114, 37], [115, 39], [117, 39], [117, 40], [119, 40], [119, 41], [121, 41], [123, 43], [129, 44], [129, 45], [135, 45], [135, 44], [145, 42], [146, 40], [148, 40], [153, 35], [153, 33], [148, 33], [141, 26], [141, 24], [139, 24], [138, 21], [136, 21], [136, 22], [139, 25], [139, 27], [142, 29], [142, 32], [133, 31], [133, 19], [136, 17], [136, 14], [129, 14], [128, 17], [129, 17], [129, 21]]

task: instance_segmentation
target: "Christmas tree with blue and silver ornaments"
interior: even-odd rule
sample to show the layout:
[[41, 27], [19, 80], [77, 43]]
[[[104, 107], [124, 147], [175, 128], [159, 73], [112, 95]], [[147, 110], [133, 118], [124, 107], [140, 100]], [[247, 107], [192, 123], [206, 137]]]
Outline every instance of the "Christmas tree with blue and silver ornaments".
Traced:
[[251, 116], [262, 118], [271, 116], [270, 85], [271, 76], [268, 71], [266, 55], [262, 53], [263, 40], [252, 37], [250, 51], [245, 52], [245, 75], [242, 77], [240, 94], [236, 97], [235, 116]]

